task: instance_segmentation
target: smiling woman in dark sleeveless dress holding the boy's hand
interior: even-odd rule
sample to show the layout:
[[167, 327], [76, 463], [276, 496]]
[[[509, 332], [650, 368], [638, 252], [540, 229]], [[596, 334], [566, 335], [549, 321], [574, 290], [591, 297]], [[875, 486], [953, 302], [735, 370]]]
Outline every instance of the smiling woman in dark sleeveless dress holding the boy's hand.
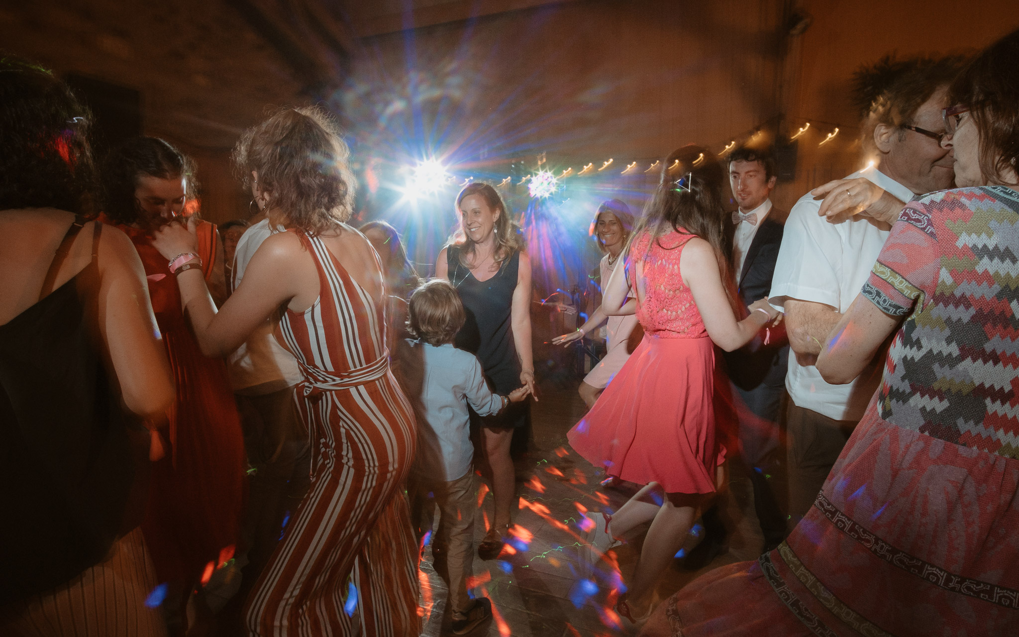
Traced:
[[[467, 311], [457, 347], [478, 357], [496, 393], [527, 385], [533, 395], [531, 259], [519, 227], [487, 183], [466, 185], [457, 196], [457, 214], [460, 228], [435, 263], [435, 276], [457, 287]], [[490, 472], [486, 477], [495, 500], [492, 526], [478, 545], [483, 560], [498, 555], [508, 535], [515, 483], [509, 443], [514, 429], [527, 425], [527, 409], [526, 403], [517, 403], [481, 421], [483, 469]]]

